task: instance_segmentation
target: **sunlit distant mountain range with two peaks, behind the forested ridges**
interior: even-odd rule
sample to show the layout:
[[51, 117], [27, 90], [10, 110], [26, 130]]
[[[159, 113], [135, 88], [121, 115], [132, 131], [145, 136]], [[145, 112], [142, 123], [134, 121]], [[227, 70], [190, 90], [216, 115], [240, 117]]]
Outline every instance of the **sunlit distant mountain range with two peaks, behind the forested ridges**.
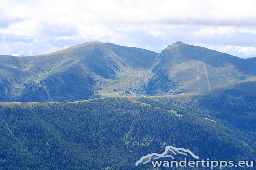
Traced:
[[1, 102], [193, 93], [256, 81], [256, 58], [176, 42], [160, 54], [87, 42], [46, 55], [0, 55]]

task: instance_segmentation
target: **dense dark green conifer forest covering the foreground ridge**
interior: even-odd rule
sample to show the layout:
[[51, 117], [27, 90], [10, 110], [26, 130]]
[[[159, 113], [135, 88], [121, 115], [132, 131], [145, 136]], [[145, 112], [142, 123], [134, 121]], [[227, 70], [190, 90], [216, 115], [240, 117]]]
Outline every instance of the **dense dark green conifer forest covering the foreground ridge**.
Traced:
[[200, 160], [237, 164], [255, 159], [254, 131], [205, 119], [205, 113], [195, 113], [190, 105], [162, 100], [2, 104], [0, 169], [152, 169], [151, 163], [135, 163], [147, 154], [163, 153], [169, 145], [189, 149]]

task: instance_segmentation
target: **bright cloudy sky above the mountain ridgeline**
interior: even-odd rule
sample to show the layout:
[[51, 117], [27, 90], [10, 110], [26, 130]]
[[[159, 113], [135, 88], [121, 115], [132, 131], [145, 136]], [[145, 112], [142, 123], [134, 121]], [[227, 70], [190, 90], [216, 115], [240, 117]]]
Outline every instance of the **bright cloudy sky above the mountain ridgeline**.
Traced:
[[160, 53], [177, 41], [256, 56], [253, 0], [8, 0], [0, 55], [42, 55], [89, 41]]

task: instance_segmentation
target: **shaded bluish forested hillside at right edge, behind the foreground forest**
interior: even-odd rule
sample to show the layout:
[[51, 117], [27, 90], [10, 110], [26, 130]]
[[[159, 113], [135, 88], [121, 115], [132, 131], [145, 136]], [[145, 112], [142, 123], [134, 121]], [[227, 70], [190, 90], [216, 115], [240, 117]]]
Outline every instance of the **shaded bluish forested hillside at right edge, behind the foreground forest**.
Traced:
[[255, 86], [255, 82], [247, 81], [204, 92], [150, 98], [164, 104], [180, 102], [182, 107], [188, 108], [191, 112], [228, 122], [243, 131], [255, 132], [256, 89], [253, 88]]

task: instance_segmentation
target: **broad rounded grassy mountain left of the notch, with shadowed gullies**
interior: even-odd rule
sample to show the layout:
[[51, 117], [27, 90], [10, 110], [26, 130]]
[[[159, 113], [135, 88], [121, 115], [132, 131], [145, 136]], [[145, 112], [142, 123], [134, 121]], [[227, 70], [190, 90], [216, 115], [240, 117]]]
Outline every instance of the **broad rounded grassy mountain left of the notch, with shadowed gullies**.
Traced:
[[[145, 49], [100, 42], [47, 55], [2, 55], [0, 88], [4, 97], [1, 101], [83, 100], [99, 90], [108, 93], [116, 84], [120, 89], [126, 85], [129, 88], [129, 84], [133, 87], [131, 81], [135, 83], [137, 75], [151, 67], [156, 55]], [[72, 98], [79, 91], [82, 96]]]

